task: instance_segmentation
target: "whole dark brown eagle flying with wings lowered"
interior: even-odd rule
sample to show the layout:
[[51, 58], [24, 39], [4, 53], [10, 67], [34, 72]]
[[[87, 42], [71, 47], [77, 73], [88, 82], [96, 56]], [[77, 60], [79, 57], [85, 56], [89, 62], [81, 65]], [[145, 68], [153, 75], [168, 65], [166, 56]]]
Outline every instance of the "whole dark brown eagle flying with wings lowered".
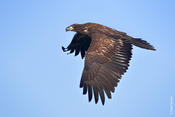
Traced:
[[105, 94], [112, 98], [122, 75], [129, 67], [132, 57], [132, 46], [155, 50], [147, 41], [133, 38], [107, 26], [96, 23], [72, 24], [66, 31], [76, 32], [64, 52], [81, 54], [85, 58], [84, 69], [80, 80], [83, 94], [88, 93], [89, 102], [93, 96], [95, 103], [101, 99], [105, 104]]

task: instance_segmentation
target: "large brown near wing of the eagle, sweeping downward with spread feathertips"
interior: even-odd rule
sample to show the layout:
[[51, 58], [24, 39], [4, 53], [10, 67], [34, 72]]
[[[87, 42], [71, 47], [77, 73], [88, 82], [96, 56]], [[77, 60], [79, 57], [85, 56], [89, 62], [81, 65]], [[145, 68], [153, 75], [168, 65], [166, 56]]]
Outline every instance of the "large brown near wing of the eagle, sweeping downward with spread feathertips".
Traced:
[[114, 39], [103, 34], [92, 37], [80, 81], [80, 88], [83, 88], [83, 94], [88, 92], [89, 101], [94, 94], [95, 103], [100, 96], [104, 105], [104, 92], [111, 98], [111, 92], [114, 92], [121, 75], [128, 69], [131, 50], [132, 45], [120, 38]]

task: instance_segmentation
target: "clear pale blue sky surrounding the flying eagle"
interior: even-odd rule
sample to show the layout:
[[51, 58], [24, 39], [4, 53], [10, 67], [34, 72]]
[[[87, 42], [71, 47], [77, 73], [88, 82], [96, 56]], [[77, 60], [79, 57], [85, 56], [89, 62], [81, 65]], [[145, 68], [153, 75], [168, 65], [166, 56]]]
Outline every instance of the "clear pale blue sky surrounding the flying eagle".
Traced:
[[[157, 49], [134, 47], [105, 106], [82, 95], [84, 60], [61, 50], [74, 35], [65, 27], [85, 22]], [[175, 117], [174, 44], [174, 0], [1, 0], [0, 117]]]

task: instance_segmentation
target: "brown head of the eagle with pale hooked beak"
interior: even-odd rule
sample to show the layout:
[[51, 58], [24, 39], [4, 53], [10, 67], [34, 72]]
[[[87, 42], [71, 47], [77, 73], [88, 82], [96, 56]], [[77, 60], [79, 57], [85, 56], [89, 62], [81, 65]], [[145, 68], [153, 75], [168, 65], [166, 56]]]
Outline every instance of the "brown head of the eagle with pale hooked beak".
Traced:
[[66, 28], [66, 31], [75, 31], [87, 35], [89, 33], [89, 28], [85, 24], [72, 24]]

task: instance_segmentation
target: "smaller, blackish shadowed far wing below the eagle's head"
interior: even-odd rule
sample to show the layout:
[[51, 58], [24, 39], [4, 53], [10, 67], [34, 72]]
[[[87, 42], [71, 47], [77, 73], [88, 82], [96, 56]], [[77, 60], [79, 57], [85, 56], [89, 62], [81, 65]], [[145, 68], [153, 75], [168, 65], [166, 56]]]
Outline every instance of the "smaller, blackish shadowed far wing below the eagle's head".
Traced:
[[62, 50], [64, 52], [70, 51], [70, 53], [73, 53], [75, 51], [75, 56], [77, 56], [81, 52], [81, 57], [83, 59], [86, 51], [89, 48], [90, 43], [91, 38], [89, 36], [81, 33], [76, 33], [68, 47], [64, 48], [62, 46]]

